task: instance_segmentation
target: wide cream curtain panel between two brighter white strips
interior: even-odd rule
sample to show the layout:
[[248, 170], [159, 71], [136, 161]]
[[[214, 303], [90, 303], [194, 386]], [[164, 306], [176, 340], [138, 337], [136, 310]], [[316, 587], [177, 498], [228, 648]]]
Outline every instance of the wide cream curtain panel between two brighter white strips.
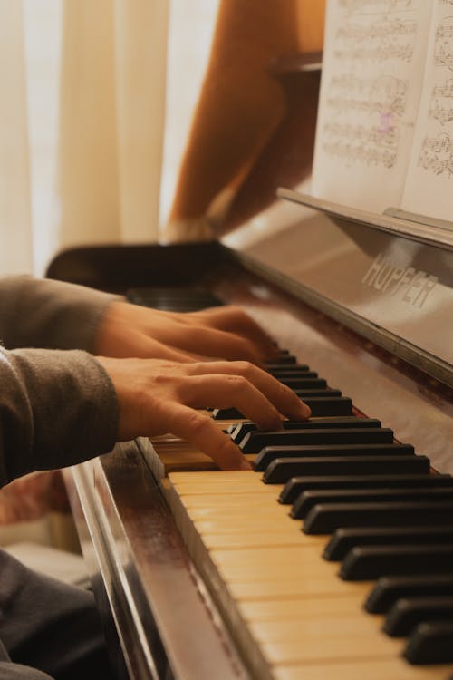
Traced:
[[66, 0], [63, 246], [157, 238], [165, 114], [166, 0]]

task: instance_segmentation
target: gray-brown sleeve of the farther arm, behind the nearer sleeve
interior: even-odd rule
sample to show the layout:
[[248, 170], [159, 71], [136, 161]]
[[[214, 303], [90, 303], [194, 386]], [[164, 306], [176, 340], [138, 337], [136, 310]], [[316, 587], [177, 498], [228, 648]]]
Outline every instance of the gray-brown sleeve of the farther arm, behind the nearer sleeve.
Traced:
[[48, 279], [0, 279], [0, 344], [86, 349], [114, 296]]

